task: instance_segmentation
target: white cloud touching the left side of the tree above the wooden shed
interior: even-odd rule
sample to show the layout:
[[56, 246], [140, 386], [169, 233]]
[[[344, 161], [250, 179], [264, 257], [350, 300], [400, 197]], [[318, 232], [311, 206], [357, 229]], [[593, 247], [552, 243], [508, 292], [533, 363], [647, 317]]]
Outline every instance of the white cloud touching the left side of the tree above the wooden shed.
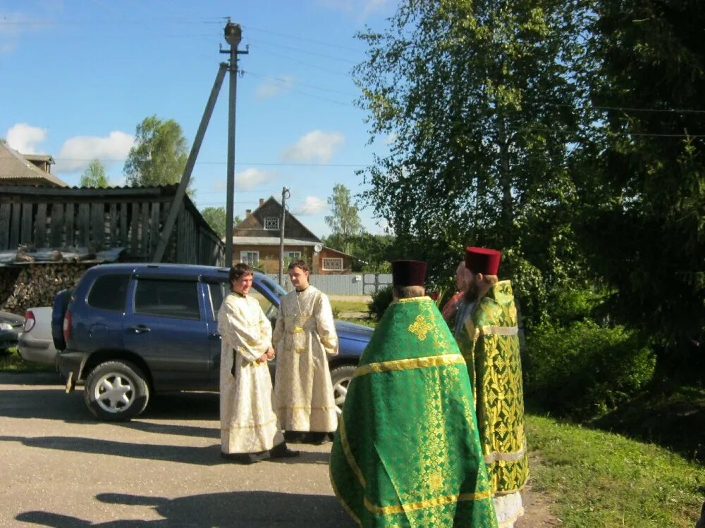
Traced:
[[99, 159], [106, 168], [122, 163], [135, 143], [131, 134], [114, 130], [108, 137], [75, 136], [66, 139], [54, 157], [56, 173], [79, 172], [93, 159]]

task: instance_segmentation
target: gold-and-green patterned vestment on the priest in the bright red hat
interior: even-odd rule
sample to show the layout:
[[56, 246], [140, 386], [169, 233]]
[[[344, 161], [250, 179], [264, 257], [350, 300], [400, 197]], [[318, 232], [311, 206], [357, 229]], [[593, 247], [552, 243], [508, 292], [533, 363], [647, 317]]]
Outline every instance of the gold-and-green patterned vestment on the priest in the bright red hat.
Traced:
[[517, 308], [510, 281], [479, 299], [458, 335], [477, 412], [492, 491], [519, 491], [529, 476]]

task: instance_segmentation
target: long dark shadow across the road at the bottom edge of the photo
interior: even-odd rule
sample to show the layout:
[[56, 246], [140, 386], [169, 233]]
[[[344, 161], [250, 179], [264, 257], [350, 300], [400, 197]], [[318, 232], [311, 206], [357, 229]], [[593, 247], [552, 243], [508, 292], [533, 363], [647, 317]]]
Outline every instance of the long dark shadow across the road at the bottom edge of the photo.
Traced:
[[331, 496], [285, 494], [266, 491], [239, 491], [204, 494], [175, 499], [128, 494], [99, 494], [107, 504], [151, 507], [160, 520], [111, 520], [99, 524], [78, 517], [51, 512], [30, 511], [17, 515], [18, 521], [47, 527], [132, 528], [154, 527], [317, 527], [345, 528], [356, 524]]

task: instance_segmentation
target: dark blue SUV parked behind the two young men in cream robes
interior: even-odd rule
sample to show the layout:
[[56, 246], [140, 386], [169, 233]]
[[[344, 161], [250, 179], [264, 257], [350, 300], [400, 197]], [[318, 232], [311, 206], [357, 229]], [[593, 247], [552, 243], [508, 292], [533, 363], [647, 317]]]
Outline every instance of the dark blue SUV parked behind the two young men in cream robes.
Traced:
[[[84, 382], [86, 405], [108, 421], [139, 415], [156, 392], [217, 391], [221, 338], [216, 318], [229, 291], [227, 268], [90, 268], [73, 291], [61, 292], [54, 301], [52, 330], [66, 390]], [[273, 324], [284, 294], [269, 277], [255, 272], [250, 295]], [[372, 329], [336, 321], [336, 330], [340, 353], [329, 365], [341, 409]]]

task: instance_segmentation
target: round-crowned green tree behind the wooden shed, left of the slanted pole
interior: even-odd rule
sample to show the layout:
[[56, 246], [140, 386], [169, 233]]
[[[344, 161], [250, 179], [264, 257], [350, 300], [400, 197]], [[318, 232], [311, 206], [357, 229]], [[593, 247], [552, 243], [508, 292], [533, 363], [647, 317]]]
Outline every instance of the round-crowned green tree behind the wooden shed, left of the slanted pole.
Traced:
[[183, 175], [187, 152], [188, 142], [178, 122], [150, 115], [137, 125], [135, 145], [128, 153], [123, 172], [130, 185], [175, 184]]

